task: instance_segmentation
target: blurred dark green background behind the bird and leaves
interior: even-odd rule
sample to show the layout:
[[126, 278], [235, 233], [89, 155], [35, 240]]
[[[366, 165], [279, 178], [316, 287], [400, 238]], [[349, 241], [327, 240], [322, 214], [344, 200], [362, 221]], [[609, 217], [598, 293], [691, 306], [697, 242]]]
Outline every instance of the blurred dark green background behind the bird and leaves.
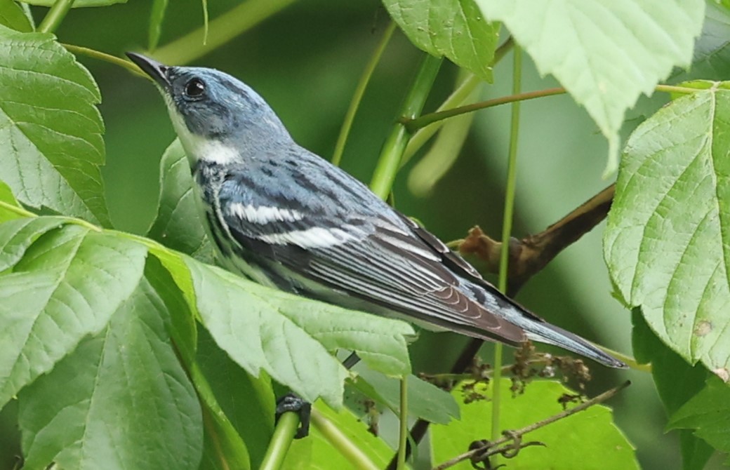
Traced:
[[[239, 4], [210, 1], [215, 18]], [[199, 0], [170, 2], [161, 45], [201, 26]], [[37, 20], [45, 9], [34, 9]], [[114, 7], [75, 9], [58, 30], [61, 42], [113, 55], [144, 50], [150, 2], [130, 0]], [[329, 158], [339, 126], [366, 61], [388, 16], [377, 0], [301, 0], [194, 62], [241, 78], [279, 113], [295, 139]], [[422, 53], [396, 31], [358, 110], [342, 166], [369, 181], [380, 146], [396, 117]], [[107, 126], [104, 178], [115, 225], [144, 233], [155, 212], [158, 161], [174, 137], [163, 103], [149, 82], [109, 63], [80, 57], [99, 82]], [[433, 110], [453, 89], [458, 70], [444, 63], [426, 105]], [[556, 86], [541, 79], [525, 58], [524, 90]], [[483, 97], [510, 94], [511, 55], [499, 63], [495, 85]], [[475, 224], [499, 238], [506, 174], [509, 107], [478, 112], [453, 169], [429, 196], [416, 198], [406, 185], [407, 167], [396, 182], [401, 211], [417, 217], [444, 240], [458, 239]], [[602, 179], [607, 145], [588, 115], [568, 96], [523, 104], [519, 144], [515, 236], [542, 231], [610, 184]], [[414, 158], [412, 163], [418, 161]], [[410, 166], [412, 166], [412, 163]], [[610, 295], [599, 226], [569, 247], [520, 292], [518, 300], [552, 323], [631, 353], [630, 315]], [[412, 348], [415, 370], [443, 371], [464, 340], [423, 334]], [[485, 347], [489, 357], [490, 347]], [[450, 356], [445, 351], [452, 353]], [[511, 358], [508, 350], [507, 358]], [[664, 435], [664, 411], [650, 375], [593, 366], [588, 393], [633, 385], [610, 403], [623, 432], [638, 448], [645, 469], [680, 467], [677, 442]], [[15, 407], [0, 413], [0, 469], [12, 468], [18, 447]]]

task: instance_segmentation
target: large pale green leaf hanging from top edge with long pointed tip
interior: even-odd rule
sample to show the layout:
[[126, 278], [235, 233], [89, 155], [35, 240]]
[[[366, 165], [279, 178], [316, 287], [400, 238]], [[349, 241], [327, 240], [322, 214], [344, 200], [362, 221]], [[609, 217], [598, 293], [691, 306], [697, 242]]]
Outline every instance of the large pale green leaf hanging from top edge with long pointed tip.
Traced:
[[639, 94], [650, 95], [674, 66], [689, 66], [704, 0], [475, 0], [502, 21], [598, 124], [618, 164], [618, 130]]

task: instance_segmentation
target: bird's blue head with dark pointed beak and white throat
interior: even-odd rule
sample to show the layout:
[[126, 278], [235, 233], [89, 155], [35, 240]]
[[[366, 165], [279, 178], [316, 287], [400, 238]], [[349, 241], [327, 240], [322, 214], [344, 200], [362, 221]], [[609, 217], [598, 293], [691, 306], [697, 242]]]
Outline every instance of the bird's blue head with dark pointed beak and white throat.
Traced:
[[136, 53], [127, 55], [158, 85], [191, 163], [228, 163], [291, 142], [266, 101], [231, 75], [201, 67], [165, 66]]

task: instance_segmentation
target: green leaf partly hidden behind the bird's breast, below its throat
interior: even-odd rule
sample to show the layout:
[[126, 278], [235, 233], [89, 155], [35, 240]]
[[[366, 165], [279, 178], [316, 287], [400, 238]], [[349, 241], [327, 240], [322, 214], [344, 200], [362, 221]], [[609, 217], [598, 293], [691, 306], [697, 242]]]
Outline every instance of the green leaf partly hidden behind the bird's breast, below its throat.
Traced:
[[213, 263], [213, 247], [201, 217], [198, 196], [193, 188], [190, 163], [180, 140], [175, 139], [160, 162], [160, 201], [157, 217], [147, 236], [166, 247]]

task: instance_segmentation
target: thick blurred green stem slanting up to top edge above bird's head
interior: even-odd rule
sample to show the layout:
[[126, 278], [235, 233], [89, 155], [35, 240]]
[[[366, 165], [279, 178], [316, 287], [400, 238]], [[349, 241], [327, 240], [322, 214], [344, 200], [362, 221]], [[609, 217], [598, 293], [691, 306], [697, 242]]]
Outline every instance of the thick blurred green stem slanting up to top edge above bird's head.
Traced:
[[155, 58], [162, 63], [183, 65], [210, 53], [234, 37], [253, 28], [261, 21], [293, 4], [295, 0], [248, 0], [231, 8], [208, 23], [210, 33], [206, 40], [206, 27], [192, 31], [175, 39], [155, 52]]

